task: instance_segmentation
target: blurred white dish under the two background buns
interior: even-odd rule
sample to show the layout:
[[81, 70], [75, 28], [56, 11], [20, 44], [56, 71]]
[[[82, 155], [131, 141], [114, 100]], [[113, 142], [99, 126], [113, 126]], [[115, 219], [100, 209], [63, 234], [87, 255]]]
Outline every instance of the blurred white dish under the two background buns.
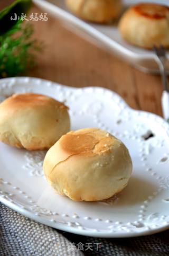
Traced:
[[[155, 61], [154, 52], [126, 43], [121, 39], [117, 25], [101, 25], [82, 21], [67, 10], [63, 0], [33, 0], [33, 2], [44, 8], [46, 12], [58, 17], [72, 31], [84, 36], [86, 39], [94, 40], [93, 42], [104, 46], [112, 54], [123, 58], [123, 60], [142, 69], [144, 72], [157, 72], [158, 66]], [[147, 0], [125, 0], [124, 4], [129, 6], [138, 2], [147, 2]], [[168, 0], [149, 0], [148, 2], [169, 6]], [[169, 59], [169, 53], [167, 56]], [[169, 71], [169, 63], [166, 65], [166, 69]]]

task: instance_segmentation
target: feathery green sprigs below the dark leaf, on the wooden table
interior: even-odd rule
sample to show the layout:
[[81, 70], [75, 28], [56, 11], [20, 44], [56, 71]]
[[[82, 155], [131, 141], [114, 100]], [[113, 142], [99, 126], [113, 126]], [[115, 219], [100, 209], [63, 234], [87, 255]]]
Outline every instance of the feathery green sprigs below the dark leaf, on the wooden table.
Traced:
[[0, 77], [20, 75], [35, 65], [34, 54], [42, 50], [43, 45], [31, 39], [32, 34], [32, 25], [17, 22], [0, 36]]

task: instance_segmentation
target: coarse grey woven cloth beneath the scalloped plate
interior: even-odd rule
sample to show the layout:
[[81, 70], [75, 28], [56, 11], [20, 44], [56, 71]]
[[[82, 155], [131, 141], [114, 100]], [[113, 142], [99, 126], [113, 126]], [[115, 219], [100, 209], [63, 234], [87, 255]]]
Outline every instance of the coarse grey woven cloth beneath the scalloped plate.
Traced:
[[[82, 243], [83, 250], [76, 250]], [[96, 243], [101, 243], [97, 248]], [[87, 249], [91, 245], [90, 249]], [[78, 247], [77, 247], [78, 248]], [[169, 231], [131, 239], [73, 235], [34, 222], [0, 203], [1, 256], [169, 255]]]

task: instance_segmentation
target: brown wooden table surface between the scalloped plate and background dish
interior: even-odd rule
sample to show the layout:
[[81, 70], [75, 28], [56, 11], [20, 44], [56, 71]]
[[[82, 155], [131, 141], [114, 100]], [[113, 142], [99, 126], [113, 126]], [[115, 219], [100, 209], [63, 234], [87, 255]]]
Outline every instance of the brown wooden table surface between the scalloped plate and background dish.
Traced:
[[[33, 7], [32, 12], [44, 10]], [[138, 71], [70, 32], [49, 13], [48, 17], [46, 22], [32, 21], [34, 36], [45, 48], [27, 75], [75, 87], [102, 86], [118, 93], [130, 107], [162, 116], [159, 76]]]

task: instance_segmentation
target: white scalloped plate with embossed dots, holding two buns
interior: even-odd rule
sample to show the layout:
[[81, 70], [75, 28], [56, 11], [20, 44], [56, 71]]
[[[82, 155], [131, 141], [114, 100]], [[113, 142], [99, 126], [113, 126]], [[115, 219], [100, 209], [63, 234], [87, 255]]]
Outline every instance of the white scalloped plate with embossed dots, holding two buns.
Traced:
[[[131, 237], [169, 226], [169, 126], [162, 118], [130, 109], [114, 92], [101, 87], [72, 88], [39, 78], [0, 80], [0, 100], [13, 93], [35, 92], [66, 101], [72, 129], [98, 127], [121, 139], [132, 156], [128, 186], [101, 202], [75, 202], [46, 182], [45, 152], [27, 152], [0, 143], [0, 200], [37, 222], [81, 235]], [[15, 118], [15, 117], [14, 117]], [[145, 140], [147, 131], [154, 134]]]

